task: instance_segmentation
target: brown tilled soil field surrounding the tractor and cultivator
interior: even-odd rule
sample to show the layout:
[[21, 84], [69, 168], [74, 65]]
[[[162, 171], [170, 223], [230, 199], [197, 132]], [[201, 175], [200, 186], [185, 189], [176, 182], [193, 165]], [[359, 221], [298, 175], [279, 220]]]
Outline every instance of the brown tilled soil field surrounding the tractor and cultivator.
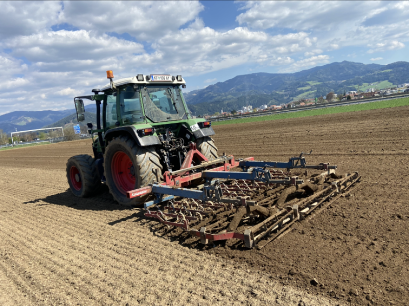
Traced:
[[[358, 171], [352, 196], [261, 250], [188, 245], [105, 189], [68, 190], [90, 141], [0, 152], [0, 305], [407, 305], [409, 107], [215, 126], [219, 152]], [[311, 282], [316, 279], [317, 284]]]

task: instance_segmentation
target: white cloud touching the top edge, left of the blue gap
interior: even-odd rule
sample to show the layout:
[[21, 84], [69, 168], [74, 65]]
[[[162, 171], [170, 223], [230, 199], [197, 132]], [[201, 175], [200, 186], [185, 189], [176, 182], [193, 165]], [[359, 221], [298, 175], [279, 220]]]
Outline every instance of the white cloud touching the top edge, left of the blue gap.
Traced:
[[203, 9], [197, 1], [64, 1], [60, 22], [154, 41], [194, 20]]

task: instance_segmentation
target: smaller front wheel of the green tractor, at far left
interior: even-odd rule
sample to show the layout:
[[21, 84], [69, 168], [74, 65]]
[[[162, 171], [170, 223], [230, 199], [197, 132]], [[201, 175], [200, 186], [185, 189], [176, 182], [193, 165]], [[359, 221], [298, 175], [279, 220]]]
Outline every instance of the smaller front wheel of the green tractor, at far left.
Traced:
[[89, 155], [70, 158], [66, 166], [67, 181], [74, 195], [87, 197], [95, 194], [101, 186], [94, 159]]

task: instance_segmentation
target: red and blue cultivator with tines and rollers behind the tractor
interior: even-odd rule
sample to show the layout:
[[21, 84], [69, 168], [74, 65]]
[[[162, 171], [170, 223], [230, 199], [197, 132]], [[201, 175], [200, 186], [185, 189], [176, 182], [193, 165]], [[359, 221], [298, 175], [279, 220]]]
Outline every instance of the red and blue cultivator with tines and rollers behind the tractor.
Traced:
[[[247, 248], [262, 248], [286, 234], [294, 222], [347, 195], [360, 180], [357, 172], [336, 175], [336, 166], [327, 163], [308, 165], [304, 152], [288, 162], [235, 161], [225, 155], [208, 161], [194, 144], [190, 149], [184, 169], [166, 172], [164, 183], [127, 196], [152, 194], [155, 199], [145, 203], [145, 216], [179, 227], [202, 244], [238, 239]], [[192, 166], [194, 159], [200, 164]]]

